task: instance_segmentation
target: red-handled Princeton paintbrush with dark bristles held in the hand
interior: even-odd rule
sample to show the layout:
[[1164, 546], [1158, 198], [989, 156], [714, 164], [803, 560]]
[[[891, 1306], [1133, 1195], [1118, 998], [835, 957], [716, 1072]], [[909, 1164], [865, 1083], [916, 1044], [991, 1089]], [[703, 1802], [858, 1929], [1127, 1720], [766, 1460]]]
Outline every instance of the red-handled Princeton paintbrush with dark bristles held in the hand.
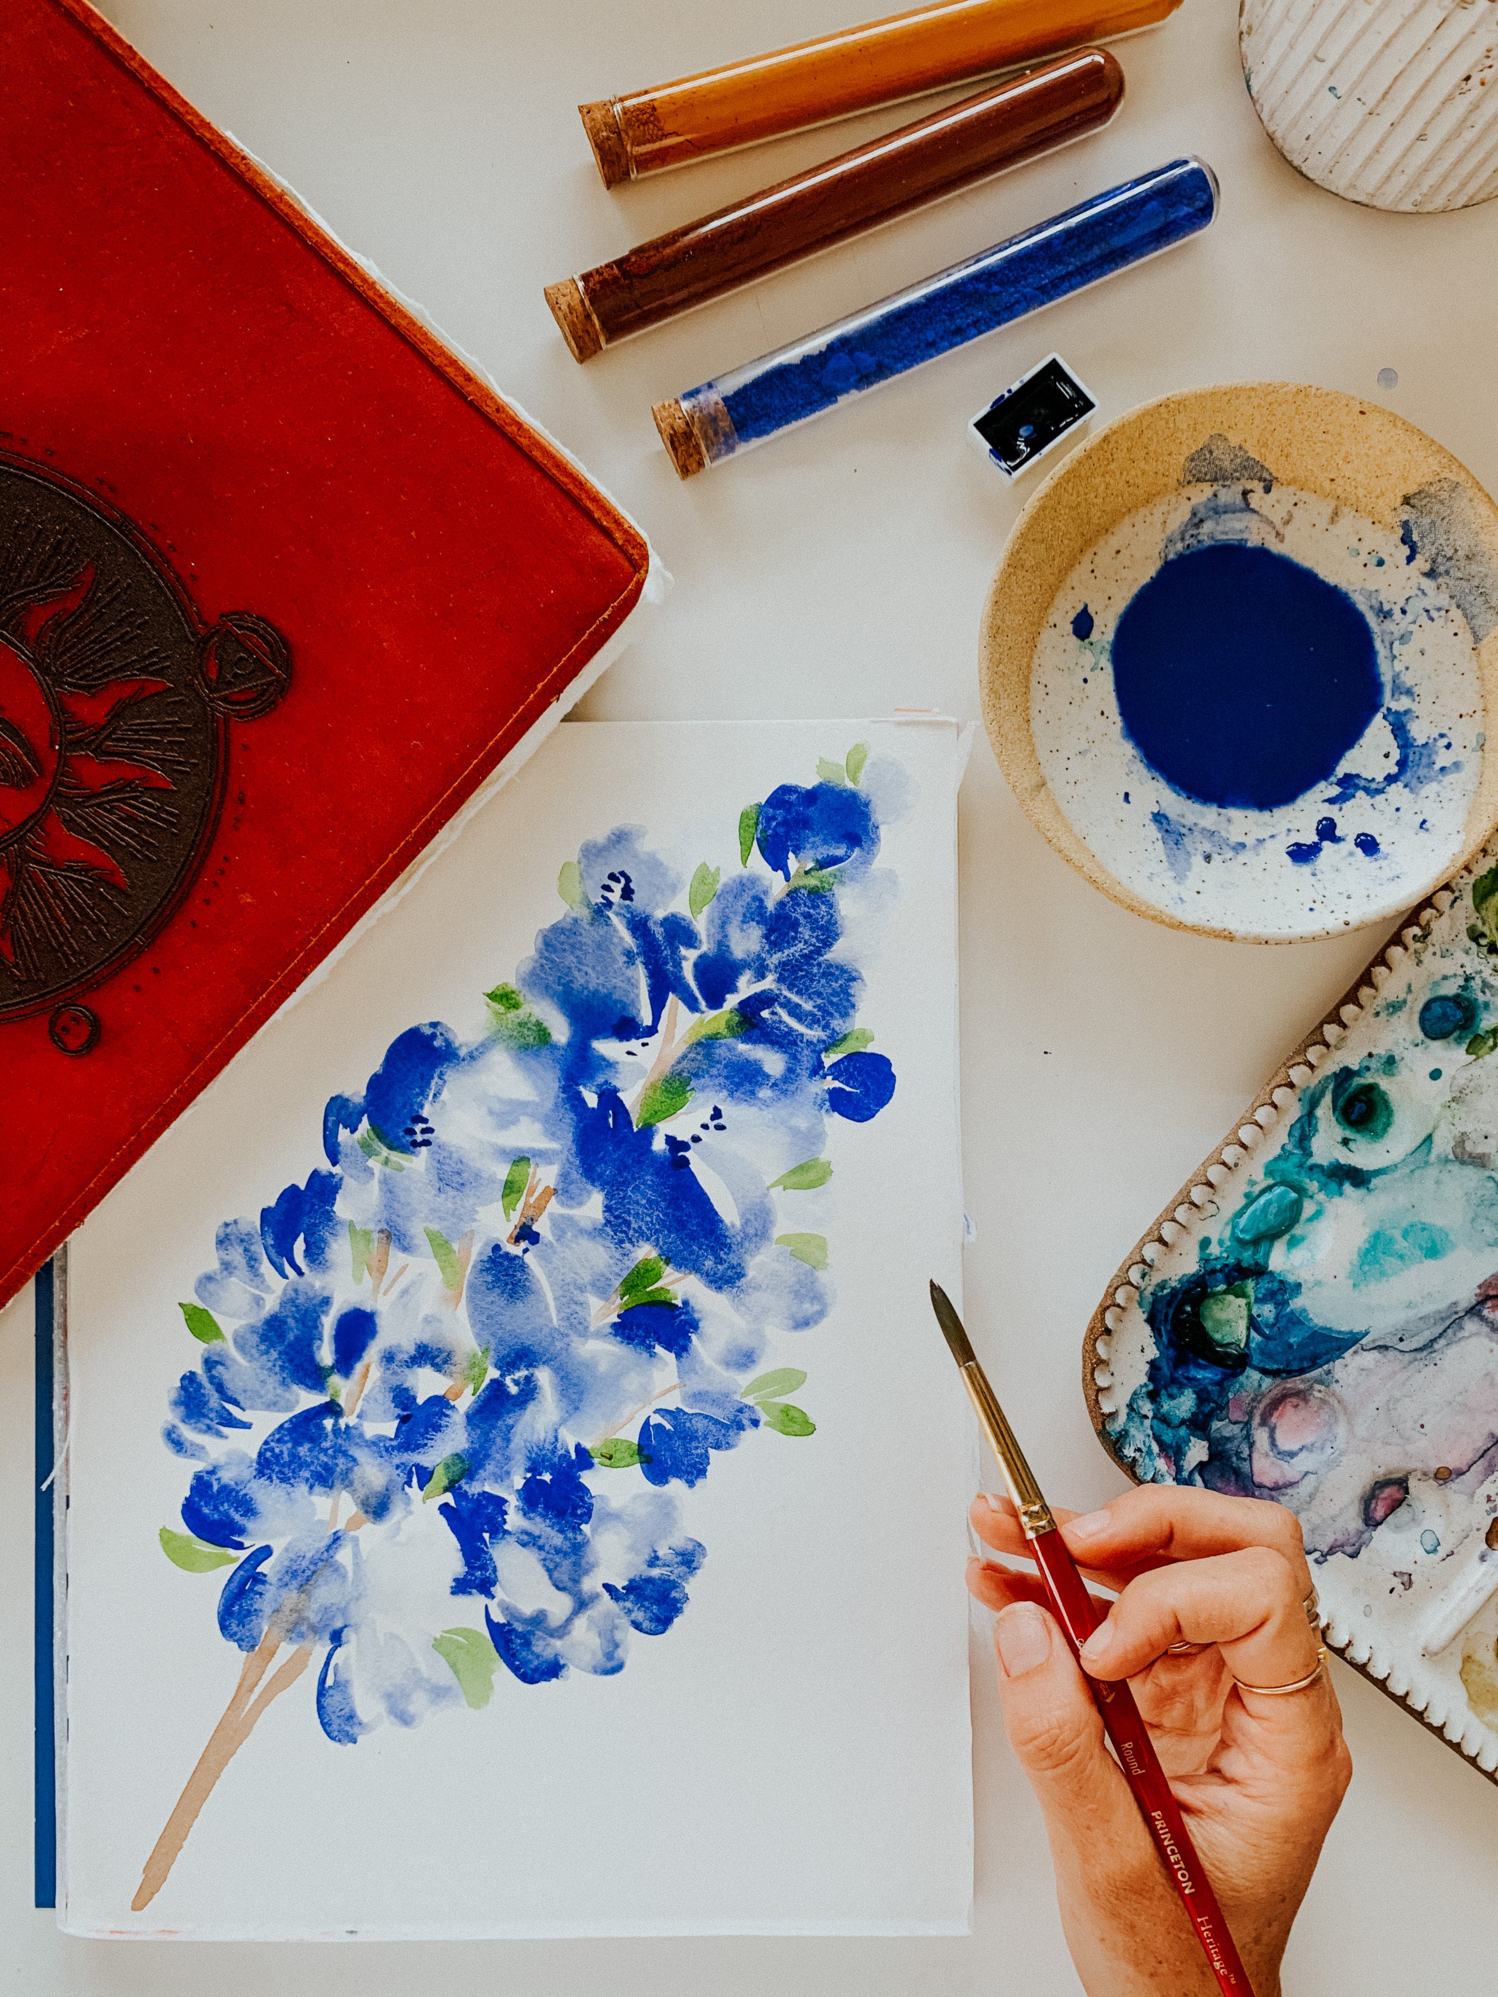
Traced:
[[[1067, 1552], [1067, 1542], [1057, 1532], [1051, 1506], [1041, 1496], [1035, 1472], [1025, 1462], [1019, 1442], [1015, 1442], [1015, 1430], [1009, 1426], [1005, 1410], [999, 1406], [987, 1374], [977, 1362], [977, 1354], [963, 1330], [963, 1320], [937, 1282], [931, 1284], [931, 1308], [937, 1312], [937, 1324], [941, 1324], [947, 1344], [953, 1348], [957, 1370], [977, 1410], [983, 1434], [999, 1458], [999, 1468], [1005, 1474], [1009, 1496], [1015, 1500], [1031, 1558], [1041, 1570], [1041, 1580], [1051, 1596], [1051, 1608], [1071, 1644], [1073, 1656], [1077, 1656], [1103, 1622], [1103, 1616], [1077, 1572], [1077, 1562]], [[1170, 1883], [1180, 1895], [1180, 1903], [1190, 1917], [1190, 1925], [1196, 1931], [1206, 1961], [1212, 1965], [1218, 1985], [1224, 1991], [1232, 1991], [1234, 1997], [1252, 1997], [1248, 1973], [1232, 1945], [1228, 1923], [1222, 1919], [1222, 1909], [1196, 1857], [1180, 1805], [1170, 1793], [1170, 1783], [1144, 1729], [1132, 1691], [1123, 1679], [1111, 1685], [1099, 1677], [1087, 1677], [1087, 1689], [1093, 1693], [1093, 1701], [1103, 1715], [1103, 1725], [1119, 1753], [1124, 1781], [1134, 1793], [1138, 1813], [1144, 1817], [1144, 1825], [1154, 1839]]]

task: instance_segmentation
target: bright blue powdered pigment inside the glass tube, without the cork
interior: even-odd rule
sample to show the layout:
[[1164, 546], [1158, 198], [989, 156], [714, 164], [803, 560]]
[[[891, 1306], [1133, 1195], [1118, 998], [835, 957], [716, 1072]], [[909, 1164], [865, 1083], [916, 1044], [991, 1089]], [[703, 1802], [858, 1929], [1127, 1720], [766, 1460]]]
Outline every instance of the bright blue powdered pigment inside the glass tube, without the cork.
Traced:
[[857, 389], [889, 381], [921, 361], [961, 347], [997, 326], [1023, 320], [1069, 292], [1111, 278], [1168, 250], [1216, 212], [1212, 176], [1196, 160], [1174, 160], [1124, 182], [1023, 236], [955, 266], [945, 282], [891, 302], [873, 324], [835, 333], [803, 359], [767, 365], [741, 387], [717, 393], [739, 443], [769, 437]]

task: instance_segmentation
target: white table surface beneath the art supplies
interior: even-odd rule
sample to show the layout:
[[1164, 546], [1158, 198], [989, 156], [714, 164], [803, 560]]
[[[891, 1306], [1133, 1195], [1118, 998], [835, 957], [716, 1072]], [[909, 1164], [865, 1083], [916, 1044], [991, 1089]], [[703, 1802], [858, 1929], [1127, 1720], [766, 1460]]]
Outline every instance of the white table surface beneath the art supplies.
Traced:
[[[575, 104], [859, 18], [857, 0], [108, 0], [210, 118], [286, 176], [651, 533], [677, 587], [587, 699], [591, 717], [975, 717], [977, 619], [1019, 501], [967, 417], [1059, 347], [1109, 417], [1200, 381], [1378, 397], [1498, 489], [1498, 204], [1352, 208], [1270, 148], [1230, 0], [1184, 0], [1119, 46], [1101, 136], [577, 367], [543, 284], [911, 116], [607, 194]], [[1220, 174], [1212, 232], [689, 485], [649, 417], [679, 393], [1182, 152]], [[1398, 369], [1382, 395], [1380, 367]], [[1009, 797], [979, 735], [963, 791], [969, 1322], [1059, 1500], [1123, 1484], [1079, 1386], [1119, 1258], [1222, 1136], [1374, 935], [1208, 943], [1095, 895]], [[0, 1316], [0, 1993], [24, 1997], [967, 1997], [1079, 1989], [1039, 1813], [975, 1640], [977, 1887], [969, 1939], [587, 1941], [441, 1947], [112, 1945], [30, 1907], [30, 1292]], [[1290, 1993], [1492, 1989], [1498, 1791], [1336, 1664], [1358, 1773], [1296, 1925]], [[877, 1753], [877, 1741], [869, 1743]], [[891, 1809], [901, 1799], [891, 1797]]]

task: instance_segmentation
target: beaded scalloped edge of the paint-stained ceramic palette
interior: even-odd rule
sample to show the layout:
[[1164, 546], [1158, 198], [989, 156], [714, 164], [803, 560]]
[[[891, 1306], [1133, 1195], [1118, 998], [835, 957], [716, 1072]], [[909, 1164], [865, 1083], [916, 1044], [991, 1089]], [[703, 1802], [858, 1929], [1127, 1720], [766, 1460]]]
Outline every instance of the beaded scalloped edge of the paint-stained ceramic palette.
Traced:
[[[1154, 1260], [1178, 1240], [1200, 1208], [1214, 1202], [1234, 1184], [1240, 1172], [1252, 1166], [1254, 1152], [1266, 1132], [1272, 1130], [1286, 1110], [1298, 1102], [1300, 1090], [1314, 1082], [1316, 1068], [1336, 1052], [1352, 1026], [1358, 1024], [1368, 1006], [1378, 998], [1390, 977], [1402, 969], [1410, 949], [1430, 933], [1432, 925], [1442, 915], [1446, 915], [1456, 899], [1456, 889], [1474, 881], [1494, 863], [1498, 863], [1498, 839], [1480, 847], [1464, 867], [1442, 883], [1442, 887], [1438, 887], [1412, 915], [1400, 921], [1394, 935], [1388, 937], [1382, 949], [1370, 959], [1368, 965], [1364, 965], [1336, 1004], [1328, 1006], [1330, 1016], [1324, 1014], [1322, 1022], [1312, 1026], [1304, 1040], [1300, 1040], [1288, 1058], [1280, 1062], [1280, 1066], [1252, 1098], [1238, 1124], [1234, 1124], [1216, 1150], [1196, 1166], [1184, 1186], [1180, 1186], [1176, 1196], [1154, 1216], [1154, 1222], [1144, 1230], [1144, 1234], [1140, 1234], [1130, 1254], [1126, 1254], [1115, 1270], [1113, 1280], [1103, 1294], [1103, 1302], [1093, 1312], [1087, 1324], [1087, 1336], [1083, 1338], [1083, 1392], [1087, 1396], [1087, 1412], [1097, 1440], [1132, 1484], [1142, 1484], [1146, 1480], [1140, 1478], [1134, 1464], [1115, 1448], [1113, 1434], [1107, 1426], [1109, 1420], [1119, 1414], [1119, 1408], [1111, 1402], [1113, 1372], [1109, 1368], [1109, 1346], [1113, 1332], [1123, 1326], [1123, 1312], [1130, 1304], [1138, 1302], [1140, 1286], [1148, 1276], [1148, 1270], [1154, 1266]], [[1376, 1642], [1368, 1638], [1354, 1638], [1348, 1628], [1338, 1628], [1332, 1618], [1322, 1622], [1322, 1642], [1330, 1652], [1336, 1652], [1344, 1664], [1352, 1665], [1360, 1677], [1366, 1677], [1370, 1685], [1376, 1685], [1384, 1697], [1392, 1699], [1412, 1719], [1418, 1719], [1426, 1733], [1434, 1733], [1436, 1739], [1458, 1753], [1468, 1767], [1474, 1767], [1478, 1775], [1484, 1775], [1490, 1783], [1494, 1783], [1494, 1787], [1498, 1787], [1498, 1763], [1494, 1767], [1484, 1767], [1478, 1759], [1484, 1741], [1478, 1741], [1478, 1745], [1468, 1749], [1464, 1743], [1468, 1733], [1466, 1723], [1456, 1739], [1452, 1739], [1446, 1731], [1446, 1727], [1460, 1715], [1450, 1715], [1446, 1721], [1430, 1719], [1426, 1715], [1430, 1701], [1426, 1701], [1426, 1705], [1416, 1705], [1408, 1689], [1398, 1691], [1390, 1685], [1388, 1679], [1394, 1675], [1396, 1662], [1388, 1656], [1380, 1658]], [[1488, 1739], [1492, 1739], [1492, 1735], [1488, 1735]]]

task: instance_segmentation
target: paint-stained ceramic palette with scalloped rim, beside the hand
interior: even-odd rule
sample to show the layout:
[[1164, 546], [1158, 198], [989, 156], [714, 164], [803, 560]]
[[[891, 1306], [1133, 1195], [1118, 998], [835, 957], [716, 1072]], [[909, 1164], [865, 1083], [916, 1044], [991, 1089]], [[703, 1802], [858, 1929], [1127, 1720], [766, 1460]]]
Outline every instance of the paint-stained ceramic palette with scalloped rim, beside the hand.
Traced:
[[1498, 1779], [1498, 843], [1420, 909], [1119, 1270], [1093, 1424], [1274, 1498], [1326, 1642]]

